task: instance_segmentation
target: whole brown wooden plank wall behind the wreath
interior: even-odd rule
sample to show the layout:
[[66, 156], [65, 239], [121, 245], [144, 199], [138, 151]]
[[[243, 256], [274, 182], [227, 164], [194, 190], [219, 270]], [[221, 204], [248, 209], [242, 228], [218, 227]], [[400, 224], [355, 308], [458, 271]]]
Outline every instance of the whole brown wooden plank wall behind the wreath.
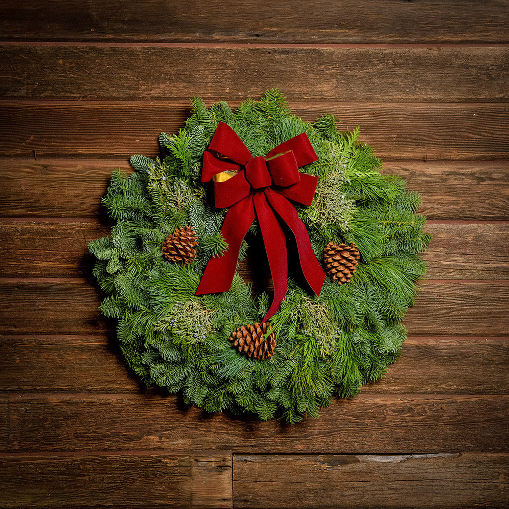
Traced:
[[[509, 505], [505, 0], [3, 0], [0, 505]], [[186, 408], [124, 367], [89, 240], [111, 171], [188, 99], [284, 92], [422, 193], [434, 235], [387, 377], [298, 426]]]

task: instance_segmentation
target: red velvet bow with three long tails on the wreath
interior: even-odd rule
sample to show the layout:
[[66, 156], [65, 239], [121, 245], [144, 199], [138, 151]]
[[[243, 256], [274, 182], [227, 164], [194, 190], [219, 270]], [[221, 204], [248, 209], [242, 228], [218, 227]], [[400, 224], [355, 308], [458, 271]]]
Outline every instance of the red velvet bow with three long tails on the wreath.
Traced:
[[281, 143], [266, 157], [252, 157], [235, 131], [219, 122], [209, 149], [203, 155], [202, 182], [209, 182], [222, 172], [235, 175], [222, 182], [217, 178], [213, 180], [214, 206], [230, 207], [221, 229], [229, 245], [221, 257], [209, 260], [196, 295], [230, 290], [240, 244], [255, 213], [274, 282], [274, 299], [263, 321], [277, 312], [288, 288], [286, 238], [278, 217], [295, 235], [304, 277], [313, 291], [320, 294], [325, 272], [315, 257], [304, 223], [288, 201], [311, 205], [318, 177], [300, 173], [299, 167], [317, 159], [305, 133]]

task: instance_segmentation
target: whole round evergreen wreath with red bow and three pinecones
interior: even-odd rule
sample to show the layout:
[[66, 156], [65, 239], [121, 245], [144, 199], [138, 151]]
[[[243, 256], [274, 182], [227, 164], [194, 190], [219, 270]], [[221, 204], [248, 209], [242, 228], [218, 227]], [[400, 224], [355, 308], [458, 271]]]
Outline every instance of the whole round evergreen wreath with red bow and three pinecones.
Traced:
[[90, 251], [147, 385], [295, 423], [385, 374], [431, 237], [419, 195], [358, 134], [304, 122], [277, 90], [234, 110], [196, 98], [161, 157], [114, 172], [116, 223]]

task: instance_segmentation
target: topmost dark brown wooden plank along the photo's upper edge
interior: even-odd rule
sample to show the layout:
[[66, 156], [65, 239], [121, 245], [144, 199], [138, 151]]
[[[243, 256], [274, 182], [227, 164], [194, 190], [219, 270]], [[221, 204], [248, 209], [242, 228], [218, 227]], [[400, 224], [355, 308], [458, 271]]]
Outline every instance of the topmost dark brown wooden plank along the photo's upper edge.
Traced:
[[505, 8], [500, 0], [379, 0], [355, 9], [346, 0], [315, 2], [311, 9], [305, 0], [241, 0], [235, 9], [218, 0], [145, 0], [119, 9], [111, 0], [69, 0], [56, 10], [49, 1], [5, 0], [0, 40], [488, 44], [507, 42]]

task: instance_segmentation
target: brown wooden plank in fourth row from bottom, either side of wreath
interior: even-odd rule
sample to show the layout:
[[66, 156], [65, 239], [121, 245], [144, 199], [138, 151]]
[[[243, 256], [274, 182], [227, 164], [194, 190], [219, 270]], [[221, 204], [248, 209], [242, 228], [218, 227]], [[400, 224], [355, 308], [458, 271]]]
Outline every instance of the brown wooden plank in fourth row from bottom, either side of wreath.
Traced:
[[[112, 331], [100, 298], [85, 279], [0, 279], [0, 334]], [[427, 282], [403, 323], [414, 335], [509, 335], [509, 281]]]

